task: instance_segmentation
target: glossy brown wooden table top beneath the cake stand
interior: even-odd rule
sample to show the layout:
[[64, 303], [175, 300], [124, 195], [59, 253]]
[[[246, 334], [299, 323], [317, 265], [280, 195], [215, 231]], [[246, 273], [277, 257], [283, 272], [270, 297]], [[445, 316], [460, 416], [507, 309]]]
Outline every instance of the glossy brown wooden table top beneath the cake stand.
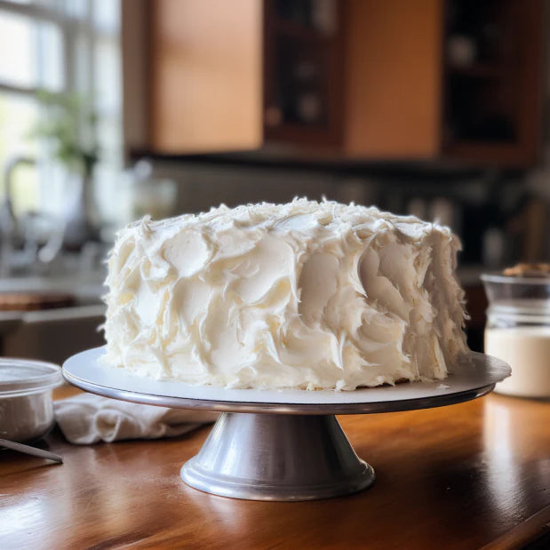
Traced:
[[[75, 446], [60, 466], [0, 452], [0, 547], [478, 548], [550, 536], [550, 403], [489, 395], [340, 417], [378, 479], [304, 503], [215, 497], [179, 479], [210, 427], [179, 439]], [[542, 547], [542, 546], [540, 546]]]

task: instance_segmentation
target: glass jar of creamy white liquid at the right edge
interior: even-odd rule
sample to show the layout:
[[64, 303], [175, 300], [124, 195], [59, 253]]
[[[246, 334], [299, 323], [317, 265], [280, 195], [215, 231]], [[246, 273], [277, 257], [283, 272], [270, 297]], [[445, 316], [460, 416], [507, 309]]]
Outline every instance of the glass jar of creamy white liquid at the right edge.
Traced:
[[495, 391], [550, 397], [550, 277], [482, 275], [482, 282], [489, 299], [485, 353], [512, 367]]

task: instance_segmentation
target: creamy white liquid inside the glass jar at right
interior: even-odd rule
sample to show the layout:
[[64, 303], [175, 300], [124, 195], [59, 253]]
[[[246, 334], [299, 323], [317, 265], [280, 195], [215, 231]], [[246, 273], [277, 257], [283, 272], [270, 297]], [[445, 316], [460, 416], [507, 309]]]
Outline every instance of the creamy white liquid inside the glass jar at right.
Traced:
[[496, 392], [550, 397], [550, 327], [486, 329], [485, 353], [512, 367], [512, 376], [497, 384]]

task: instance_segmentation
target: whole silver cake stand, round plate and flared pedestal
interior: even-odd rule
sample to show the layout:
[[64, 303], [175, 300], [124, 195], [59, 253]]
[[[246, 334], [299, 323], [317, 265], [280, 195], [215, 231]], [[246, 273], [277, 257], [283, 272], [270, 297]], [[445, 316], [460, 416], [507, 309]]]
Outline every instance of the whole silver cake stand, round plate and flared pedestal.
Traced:
[[191, 387], [102, 366], [103, 348], [63, 365], [71, 384], [124, 401], [219, 411], [199, 453], [181, 468], [195, 489], [252, 500], [313, 500], [346, 495], [374, 482], [334, 415], [411, 411], [488, 394], [510, 375], [502, 361], [471, 353], [442, 383], [416, 382], [353, 392]]

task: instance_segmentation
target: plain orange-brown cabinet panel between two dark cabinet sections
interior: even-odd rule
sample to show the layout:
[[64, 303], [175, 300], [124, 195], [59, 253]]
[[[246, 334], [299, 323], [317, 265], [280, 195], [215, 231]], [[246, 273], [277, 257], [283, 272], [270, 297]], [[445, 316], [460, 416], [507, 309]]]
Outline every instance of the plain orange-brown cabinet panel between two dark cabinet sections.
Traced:
[[348, 0], [344, 153], [433, 158], [440, 147], [442, 1]]

